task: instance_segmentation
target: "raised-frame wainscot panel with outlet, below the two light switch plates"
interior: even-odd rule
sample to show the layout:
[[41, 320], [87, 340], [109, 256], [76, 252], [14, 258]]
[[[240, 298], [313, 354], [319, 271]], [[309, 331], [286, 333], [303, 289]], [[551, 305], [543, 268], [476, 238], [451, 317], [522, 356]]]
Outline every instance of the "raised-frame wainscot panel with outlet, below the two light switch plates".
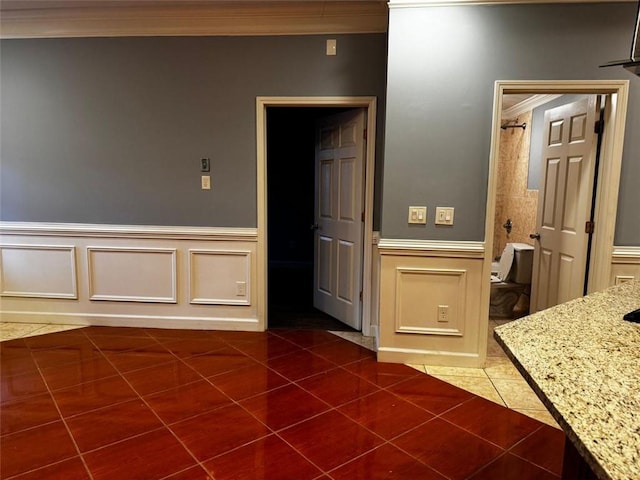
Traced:
[[[466, 270], [396, 269], [396, 332], [462, 336], [467, 296]], [[438, 321], [438, 308], [448, 320]]]

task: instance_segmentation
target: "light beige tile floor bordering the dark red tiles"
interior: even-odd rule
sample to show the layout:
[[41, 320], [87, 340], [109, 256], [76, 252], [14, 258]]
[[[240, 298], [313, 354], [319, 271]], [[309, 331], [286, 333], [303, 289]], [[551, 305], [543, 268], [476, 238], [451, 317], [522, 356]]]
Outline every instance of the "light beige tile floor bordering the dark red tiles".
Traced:
[[[551, 414], [549, 414], [493, 338], [493, 329], [504, 323], [506, 323], [504, 320], [489, 321], [487, 363], [485, 368], [438, 367], [432, 365], [410, 366], [499, 405], [506, 406], [559, 428]], [[82, 327], [79, 325], [0, 322], [0, 341], [72, 330], [74, 328]], [[331, 333], [374, 350], [373, 338], [371, 337], [363, 337], [360, 334], [351, 332]]]

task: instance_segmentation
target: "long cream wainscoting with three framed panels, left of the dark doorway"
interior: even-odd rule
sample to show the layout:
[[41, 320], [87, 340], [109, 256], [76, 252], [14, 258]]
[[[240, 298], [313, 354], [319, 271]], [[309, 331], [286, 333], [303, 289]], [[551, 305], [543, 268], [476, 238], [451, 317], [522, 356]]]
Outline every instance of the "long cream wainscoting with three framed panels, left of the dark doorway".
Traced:
[[263, 330], [255, 228], [0, 222], [4, 321]]

